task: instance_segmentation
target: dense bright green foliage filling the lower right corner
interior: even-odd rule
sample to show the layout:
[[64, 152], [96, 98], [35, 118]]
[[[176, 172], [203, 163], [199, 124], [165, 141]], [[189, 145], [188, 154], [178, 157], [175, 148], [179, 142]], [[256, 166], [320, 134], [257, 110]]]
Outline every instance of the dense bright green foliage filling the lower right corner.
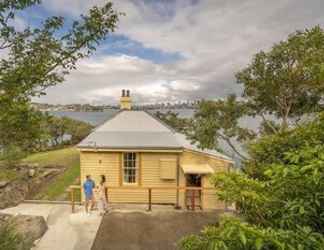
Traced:
[[[303, 125], [306, 141], [283, 148], [283, 161], [263, 163], [264, 179], [240, 172], [214, 175], [219, 199], [235, 203], [238, 216], [185, 238], [181, 248], [324, 249], [324, 147], [318, 140], [324, 133], [319, 123]], [[283, 140], [291, 141], [300, 131]]]

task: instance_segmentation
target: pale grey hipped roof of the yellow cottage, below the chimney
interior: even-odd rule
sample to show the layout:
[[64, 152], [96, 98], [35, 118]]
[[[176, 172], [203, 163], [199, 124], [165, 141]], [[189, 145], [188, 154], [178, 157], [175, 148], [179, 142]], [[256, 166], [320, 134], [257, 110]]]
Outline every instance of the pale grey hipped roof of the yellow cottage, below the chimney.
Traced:
[[145, 111], [120, 111], [81, 141], [79, 148], [179, 149], [184, 148], [231, 160], [215, 150], [201, 150], [183, 134]]

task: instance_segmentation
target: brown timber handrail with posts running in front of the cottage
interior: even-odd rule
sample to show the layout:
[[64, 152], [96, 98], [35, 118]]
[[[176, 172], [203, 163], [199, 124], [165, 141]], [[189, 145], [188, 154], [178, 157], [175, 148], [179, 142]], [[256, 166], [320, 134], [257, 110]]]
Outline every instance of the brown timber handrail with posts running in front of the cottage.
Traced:
[[[152, 190], [178, 190], [178, 191], [192, 191], [191, 197], [191, 209], [195, 210], [195, 195], [196, 191], [204, 191], [204, 190], [215, 190], [212, 187], [138, 187], [138, 186], [106, 186], [108, 190], [147, 190], [148, 191], [148, 211], [152, 211]], [[71, 205], [72, 205], [72, 213], [75, 211], [75, 197], [74, 190], [81, 189], [81, 185], [71, 185], [69, 186]]]

